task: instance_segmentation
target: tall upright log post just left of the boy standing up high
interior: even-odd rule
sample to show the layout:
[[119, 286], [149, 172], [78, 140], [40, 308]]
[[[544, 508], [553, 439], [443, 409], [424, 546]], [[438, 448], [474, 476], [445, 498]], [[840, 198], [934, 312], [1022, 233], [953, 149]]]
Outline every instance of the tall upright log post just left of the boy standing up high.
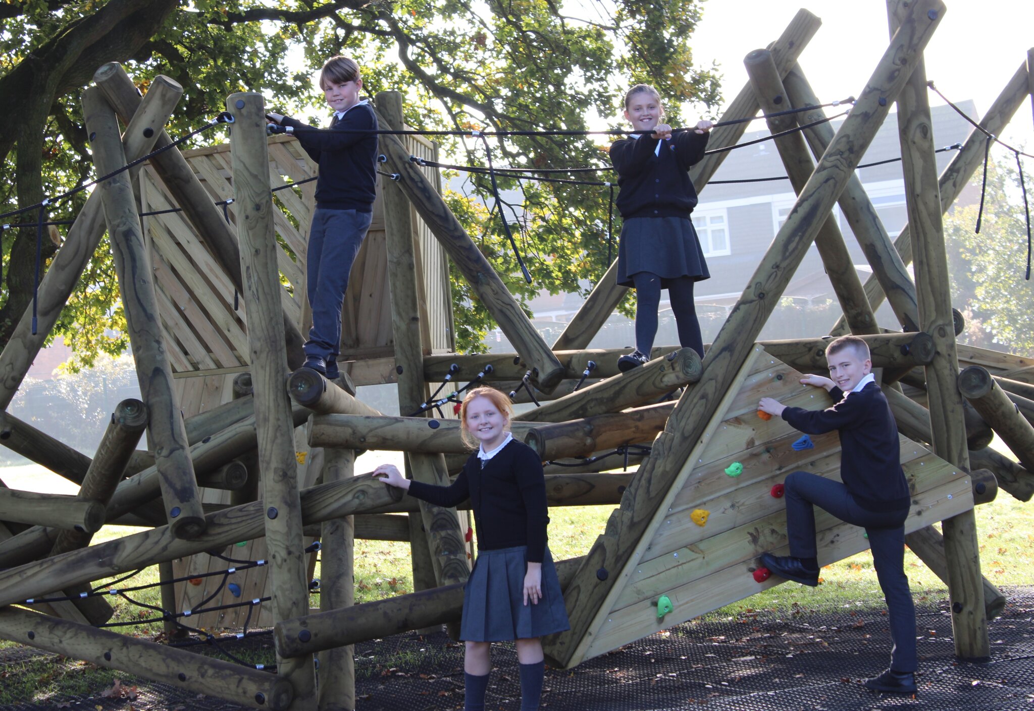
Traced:
[[[234, 200], [241, 244], [248, 349], [254, 383], [258, 467], [263, 472], [266, 546], [270, 553], [274, 621], [305, 614], [309, 586], [302, 550], [302, 509], [298, 497], [298, 461], [291, 400], [283, 383], [287, 359], [280, 306], [279, 245], [273, 234], [273, 198], [269, 188], [269, 147], [262, 94], [241, 92], [226, 97], [234, 117], [230, 154], [234, 165]], [[315, 669], [311, 655], [292, 660], [277, 655], [277, 673], [290, 680], [296, 704], [316, 705]]]

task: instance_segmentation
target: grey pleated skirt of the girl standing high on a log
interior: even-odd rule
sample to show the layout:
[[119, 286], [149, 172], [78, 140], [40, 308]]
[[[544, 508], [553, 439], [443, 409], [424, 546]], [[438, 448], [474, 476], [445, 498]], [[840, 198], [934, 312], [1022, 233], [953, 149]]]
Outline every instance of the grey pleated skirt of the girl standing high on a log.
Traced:
[[617, 283], [635, 286], [632, 277], [649, 272], [668, 281], [691, 277], [710, 278], [704, 252], [693, 222], [685, 217], [633, 217], [625, 220], [617, 246]]

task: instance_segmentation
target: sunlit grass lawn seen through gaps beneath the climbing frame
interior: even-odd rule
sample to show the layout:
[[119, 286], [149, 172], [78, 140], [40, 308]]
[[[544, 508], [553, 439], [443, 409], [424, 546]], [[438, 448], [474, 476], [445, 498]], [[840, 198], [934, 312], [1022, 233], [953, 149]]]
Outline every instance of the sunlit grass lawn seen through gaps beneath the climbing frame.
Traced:
[[[24, 468], [23, 468], [24, 469]], [[360, 467], [359, 470], [366, 470]], [[30, 473], [21, 471], [11, 477], [8, 470], [0, 471], [12, 488], [23, 488], [19, 478], [32, 482]], [[38, 484], [38, 482], [37, 482]], [[29, 488], [29, 487], [24, 487]], [[40, 490], [38, 487], [36, 490]], [[62, 491], [62, 493], [66, 493]], [[73, 493], [73, 492], [72, 492]], [[549, 546], [555, 560], [585, 554], [596, 537], [603, 532], [613, 506], [558, 507], [550, 509]], [[984, 576], [995, 585], [1029, 585], [1032, 580], [1034, 556], [1034, 507], [1000, 492], [998, 499], [976, 509], [980, 559]], [[117, 538], [139, 529], [107, 526], [94, 536], [95, 543]], [[356, 542], [356, 602], [390, 597], [413, 590], [408, 544]], [[906, 571], [917, 600], [946, 597], [944, 584], [934, 576], [911, 551], [905, 555]], [[882, 606], [882, 595], [869, 552], [846, 558], [822, 570], [823, 583], [817, 588], [800, 585], [778, 585], [753, 597], [727, 606], [709, 616], [729, 617], [753, 610], [793, 611], [804, 613], [831, 612], [838, 608]], [[320, 571], [316, 568], [316, 577]], [[147, 585], [158, 580], [157, 566], [147, 568], [119, 587]], [[104, 583], [98, 583], [103, 587]], [[129, 593], [150, 605], [159, 605], [157, 588]], [[121, 597], [109, 597], [115, 608], [112, 621], [132, 622], [154, 617], [156, 613], [138, 608]], [[313, 596], [313, 607], [318, 596]], [[124, 633], [155, 639], [162, 632], [161, 623], [133, 624], [119, 627]], [[0, 654], [5, 648], [18, 647], [0, 640]], [[248, 653], [252, 663], [274, 663], [271, 652]], [[42, 702], [71, 695], [97, 695], [109, 689], [115, 679], [123, 685], [141, 683], [126, 674], [97, 668], [91, 663], [60, 657], [8, 662], [0, 668], [0, 705], [19, 702]]]

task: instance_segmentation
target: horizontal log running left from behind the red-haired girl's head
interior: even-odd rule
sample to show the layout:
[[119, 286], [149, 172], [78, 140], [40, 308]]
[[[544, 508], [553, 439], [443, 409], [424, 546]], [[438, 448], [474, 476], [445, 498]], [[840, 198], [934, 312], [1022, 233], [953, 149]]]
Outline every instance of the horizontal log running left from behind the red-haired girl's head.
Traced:
[[[513, 423], [511, 431], [522, 439], [533, 427]], [[458, 420], [316, 414], [309, 421], [308, 441], [311, 446], [470, 455], [470, 446], [460, 438]]]

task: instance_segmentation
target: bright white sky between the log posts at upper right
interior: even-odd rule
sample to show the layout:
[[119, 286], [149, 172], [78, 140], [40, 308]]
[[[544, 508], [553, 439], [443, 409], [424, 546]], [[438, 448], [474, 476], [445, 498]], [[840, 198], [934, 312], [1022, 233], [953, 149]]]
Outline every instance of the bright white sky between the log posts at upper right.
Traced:
[[[982, 114], [1034, 47], [1034, 0], [945, 0], [945, 4], [947, 11], [926, 47], [926, 75], [951, 101], [973, 99]], [[691, 44], [697, 64], [719, 63], [726, 101], [748, 81], [743, 57], [776, 39], [800, 7], [822, 19], [822, 27], [800, 57], [816, 95], [831, 101], [864, 88], [888, 44], [884, 0], [707, 0]], [[943, 103], [933, 92], [930, 101]], [[1028, 99], [1002, 138], [1012, 145], [1026, 143], [1031, 152], [1032, 124]], [[1029, 169], [1034, 172], [1031, 162]]]

